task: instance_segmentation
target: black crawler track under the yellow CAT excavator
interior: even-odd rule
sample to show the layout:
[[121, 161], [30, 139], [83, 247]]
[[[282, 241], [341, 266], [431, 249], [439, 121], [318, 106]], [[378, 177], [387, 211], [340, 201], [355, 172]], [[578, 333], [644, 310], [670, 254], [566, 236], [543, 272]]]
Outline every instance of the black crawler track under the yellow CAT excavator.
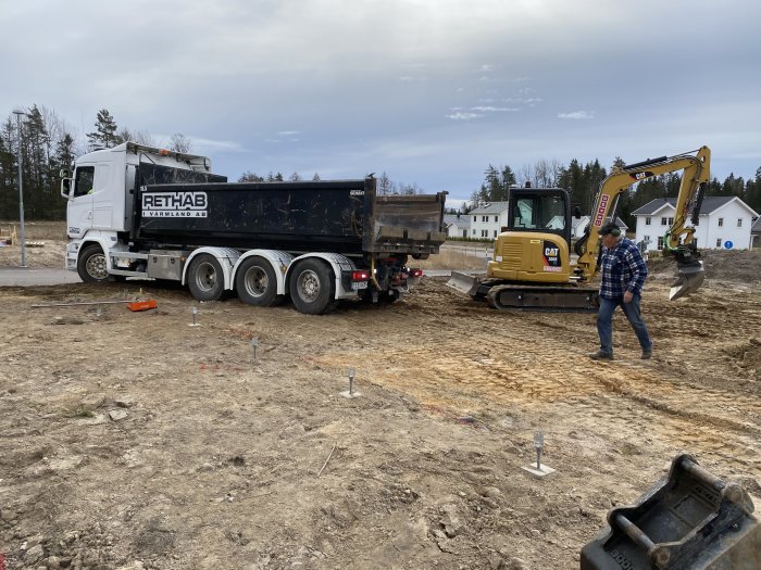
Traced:
[[546, 311], [551, 313], [596, 313], [599, 292], [589, 287], [499, 284], [486, 299], [499, 309]]

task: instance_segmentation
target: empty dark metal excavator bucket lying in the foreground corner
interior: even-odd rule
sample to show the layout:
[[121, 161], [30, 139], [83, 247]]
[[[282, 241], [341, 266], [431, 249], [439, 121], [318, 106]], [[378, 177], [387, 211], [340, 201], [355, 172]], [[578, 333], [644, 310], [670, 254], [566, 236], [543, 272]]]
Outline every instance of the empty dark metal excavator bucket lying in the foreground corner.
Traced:
[[761, 568], [761, 525], [737, 483], [687, 454], [636, 505], [608, 514], [609, 527], [582, 548], [581, 570]]

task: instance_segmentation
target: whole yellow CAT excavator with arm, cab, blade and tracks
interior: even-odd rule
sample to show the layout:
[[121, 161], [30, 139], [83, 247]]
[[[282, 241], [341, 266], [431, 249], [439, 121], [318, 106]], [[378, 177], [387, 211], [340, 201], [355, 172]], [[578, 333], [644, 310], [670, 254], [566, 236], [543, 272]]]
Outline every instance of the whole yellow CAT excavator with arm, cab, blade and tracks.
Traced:
[[[585, 235], [576, 241], [571, 259], [571, 202], [560, 188], [515, 188], [508, 201], [508, 226], [494, 243], [486, 278], [452, 271], [447, 284], [487, 299], [495, 308], [538, 311], [597, 311], [598, 289], [589, 287], [598, 269], [600, 227], [614, 219], [617, 198], [633, 183], [683, 170], [674, 223], [663, 240], [664, 255], [676, 261], [678, 277], [670, 299], [695, 292], [704, 269], [693, 239], [700, 204], [710, 177], [711, 151], [661, 156], [614, 167], [601, 183]], [[574, 214], [576, 217], [579, 212]], [[691, 218], [690, 218], [691, 216]], [[690, 220], [691, 226], [687, 223]]]

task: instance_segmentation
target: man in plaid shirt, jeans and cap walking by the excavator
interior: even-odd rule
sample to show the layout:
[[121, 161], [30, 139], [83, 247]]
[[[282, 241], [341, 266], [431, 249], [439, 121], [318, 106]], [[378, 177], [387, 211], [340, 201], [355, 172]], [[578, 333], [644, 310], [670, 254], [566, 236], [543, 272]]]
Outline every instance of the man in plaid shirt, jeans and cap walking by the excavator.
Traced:
[[639, 313], [647, 265], [639, 248], [621, 232], [613, 223], [600, 228], [602, 237], [602, 281], [600, 283], [600, 309], [597, 313], [597, 332], [600, 350], [589, 356], [595, 360], [613, 359], [613, 312], [621, 306], [639, 345], [643, 359], [652, 356], [652, 341]]

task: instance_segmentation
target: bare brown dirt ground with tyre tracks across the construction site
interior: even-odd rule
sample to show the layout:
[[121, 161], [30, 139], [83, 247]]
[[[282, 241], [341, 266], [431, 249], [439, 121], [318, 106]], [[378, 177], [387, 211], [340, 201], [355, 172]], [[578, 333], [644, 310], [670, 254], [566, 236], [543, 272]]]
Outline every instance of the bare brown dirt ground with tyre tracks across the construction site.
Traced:
[[[30, 264], [60, 267], [53, 250]], [[649, 362], [621, 316], [617, 359], [595, 363], [594, 315], [496, 312], [437, 278], [322, 317], [150, 283], [151, 312], [32, 308], [140, 284], [2, 288], [0, 553], [14, 569], [577, 568], [681, 451], [761, 506], [761, 255], [706, 263], [670, 303], [672, 268], [651, 262]], [[349, 368], [360, 397], [340, 395]], [[536, 430], [545, 480], [521, 469]]]

